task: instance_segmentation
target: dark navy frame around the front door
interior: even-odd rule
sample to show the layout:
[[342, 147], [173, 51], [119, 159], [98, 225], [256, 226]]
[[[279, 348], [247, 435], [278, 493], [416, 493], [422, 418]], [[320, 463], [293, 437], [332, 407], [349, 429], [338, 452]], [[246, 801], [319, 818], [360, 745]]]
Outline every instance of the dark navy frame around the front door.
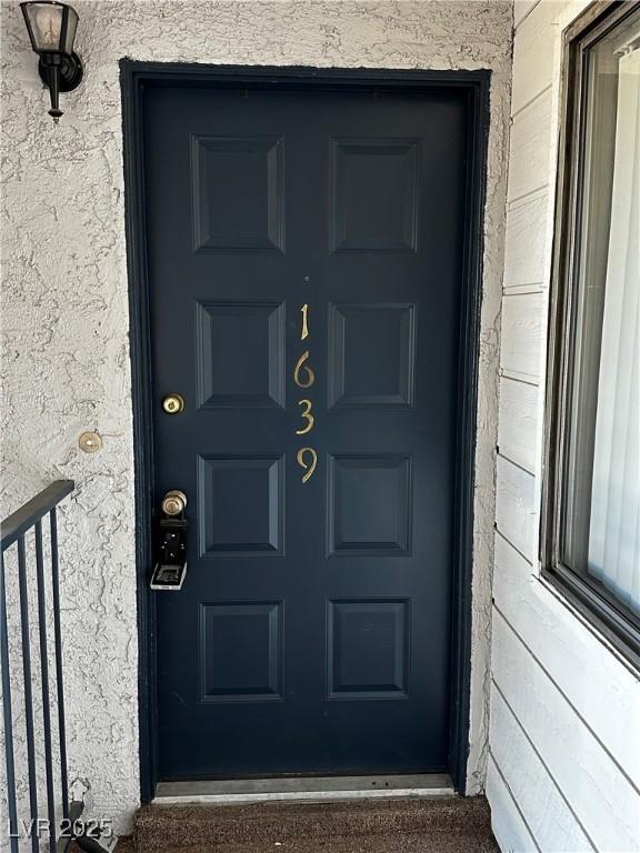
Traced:
[[453, 512], [453, 583], [451, 608], [451, 729], [449, 772], [457, 791], [467, 791], [471, 681], [471, 580], [473, 565], [473, 494], [476, 419], [480, 357], [483, 211], [489, 137], [491, 72], [307, 67], [207, 66], [178, 62], [120, 61], [122, 90], [124, 219], [129, 279], [130, 353], [133, 413], [136, 571], [138, 603], [138, 699], [140, 793], [154, 795], [158, 781], [156, 685], [156, 612], [149, 590], [153, 559], [153, 430], [150, 291], [147, 274], [142, 93], [153, 86], [229, 88], [247, 83], [264, 89], [406, 90], [456, 88], [467, 92], [467, 204], [460, 307], [456, 509]]

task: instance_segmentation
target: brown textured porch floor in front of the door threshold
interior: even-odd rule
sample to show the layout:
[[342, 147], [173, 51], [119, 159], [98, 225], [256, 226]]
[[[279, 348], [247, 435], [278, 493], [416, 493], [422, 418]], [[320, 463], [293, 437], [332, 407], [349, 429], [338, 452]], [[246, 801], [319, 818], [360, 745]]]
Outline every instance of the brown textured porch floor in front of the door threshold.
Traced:
[[497, 853], [484, 797], [150, 805], [117, 853]]

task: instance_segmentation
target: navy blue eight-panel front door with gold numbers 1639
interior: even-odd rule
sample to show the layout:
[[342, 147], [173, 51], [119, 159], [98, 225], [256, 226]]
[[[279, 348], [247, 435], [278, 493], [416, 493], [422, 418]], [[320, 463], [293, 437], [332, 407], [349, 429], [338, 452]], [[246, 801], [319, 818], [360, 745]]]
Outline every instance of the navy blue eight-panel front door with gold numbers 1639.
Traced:
[[143, 104], [160, 777], [443, 771], [466, 96]]

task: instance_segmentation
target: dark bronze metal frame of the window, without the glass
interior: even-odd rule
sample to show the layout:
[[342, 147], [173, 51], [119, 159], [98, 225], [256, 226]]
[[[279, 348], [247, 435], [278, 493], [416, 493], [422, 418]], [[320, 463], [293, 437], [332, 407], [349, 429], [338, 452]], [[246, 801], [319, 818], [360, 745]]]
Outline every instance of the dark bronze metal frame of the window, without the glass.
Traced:
[[[584, 193], [583, 118], [588, 88], [584, 67], [589, 48], [640, 8], [620, 0], [593, 2], [562, 37], [560, 133], [553, 227], [553, 258], [549, 304], [540, 574], [637, 669], [640, 670], [640, 619], [604, 584], [562, 561], [563, 485], [569, 400], [572, 391], [576, 335], [573, 310], [578, 300], [576, 263]], [[568, 455], [568, 454], [567, 454]]]

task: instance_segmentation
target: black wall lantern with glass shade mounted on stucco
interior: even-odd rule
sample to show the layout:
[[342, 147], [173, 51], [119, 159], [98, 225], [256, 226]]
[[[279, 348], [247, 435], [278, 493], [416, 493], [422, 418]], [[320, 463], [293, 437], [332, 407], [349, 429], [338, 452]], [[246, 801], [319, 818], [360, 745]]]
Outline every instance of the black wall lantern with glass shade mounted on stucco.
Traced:
[[58, 123], [62, 110], [60, 92], [70, 92], [82, 80], [82, 61], [73, 52], [78, 12], [67, 3], [34, 0], [20, 3], [29, 30], [31, 47], [40, 57], [38, 71], [51, 94], [49, 116]]

